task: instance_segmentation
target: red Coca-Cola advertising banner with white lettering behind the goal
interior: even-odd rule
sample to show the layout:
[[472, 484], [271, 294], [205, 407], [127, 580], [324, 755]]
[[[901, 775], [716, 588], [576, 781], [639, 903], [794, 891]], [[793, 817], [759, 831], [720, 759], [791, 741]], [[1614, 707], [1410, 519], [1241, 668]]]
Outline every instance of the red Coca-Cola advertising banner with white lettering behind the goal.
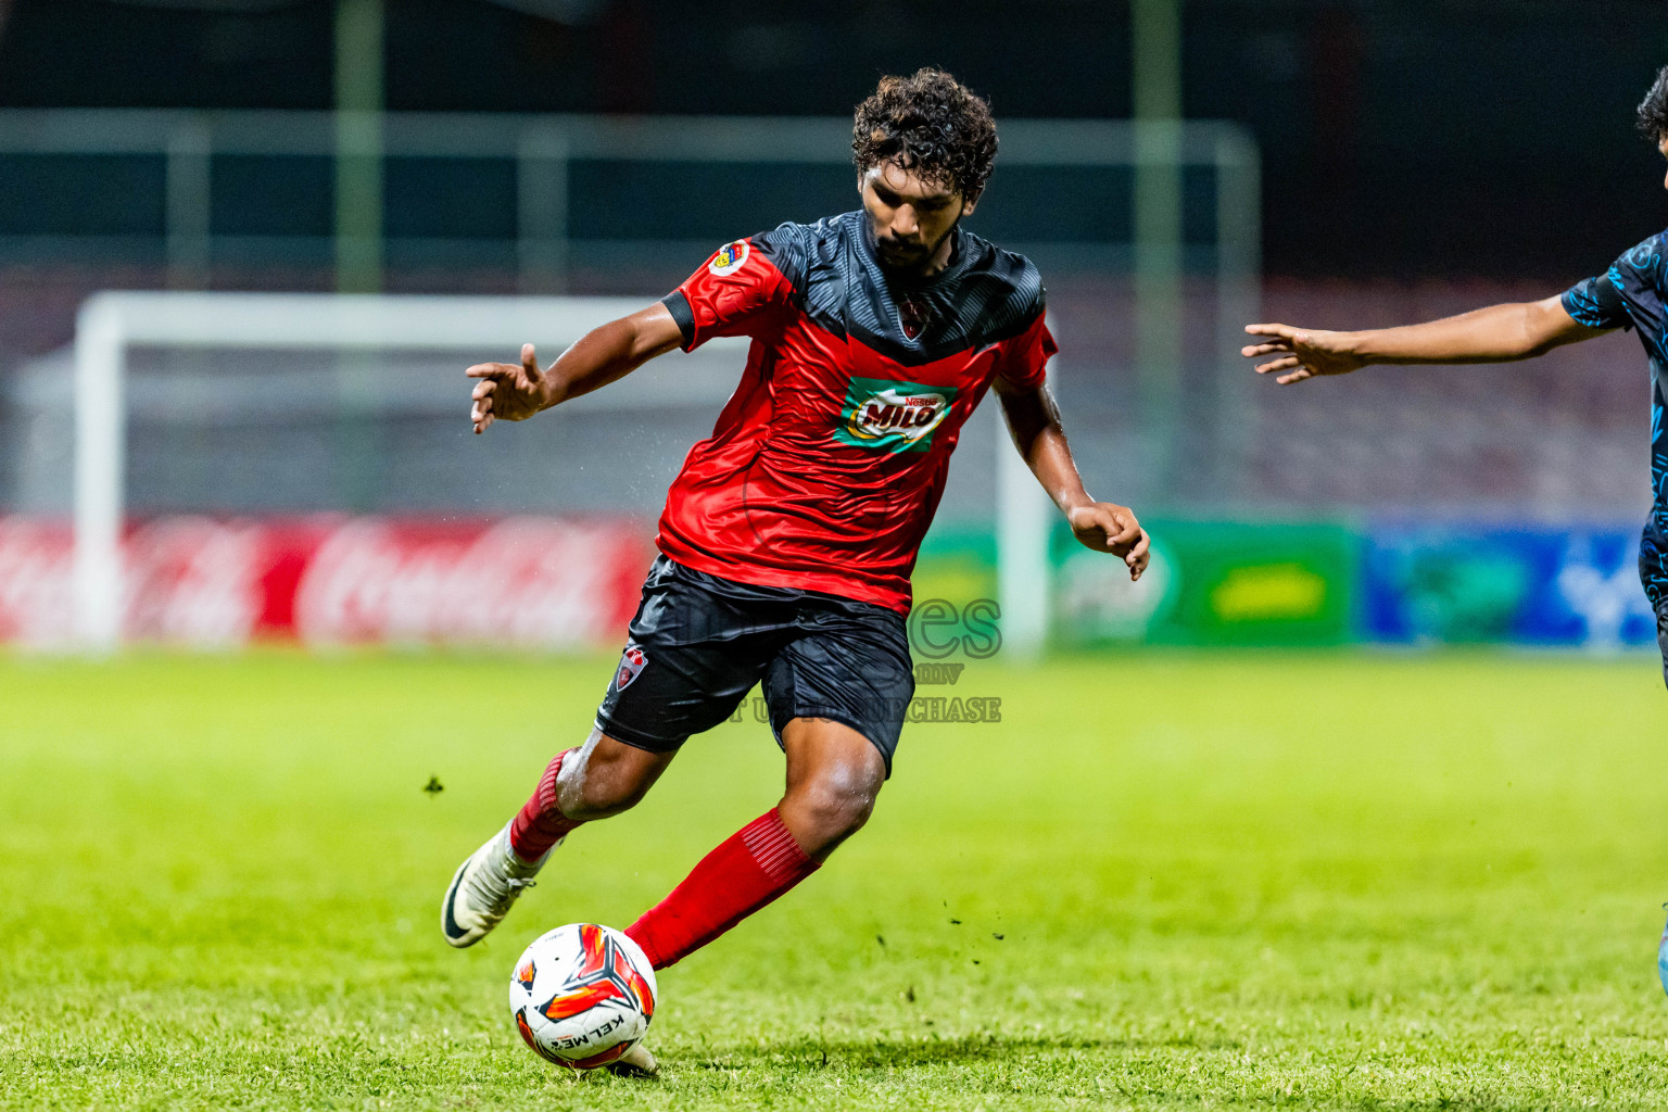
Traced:
[[[0, 517], [0, 642], [70, 644], [72, 557], [68, 523]], [[626, 520], [160, 517], [123, 538], [123, 629], [200, 649], [609, 649], [652, 559]]]

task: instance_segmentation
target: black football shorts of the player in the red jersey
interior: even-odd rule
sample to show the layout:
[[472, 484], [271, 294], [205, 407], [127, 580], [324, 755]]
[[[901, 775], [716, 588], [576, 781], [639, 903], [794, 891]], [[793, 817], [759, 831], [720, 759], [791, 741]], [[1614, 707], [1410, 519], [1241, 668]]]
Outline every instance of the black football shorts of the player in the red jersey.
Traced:
[[904, 615], [872, 602], [754, 587], [674, 564], [649, 569], [597, 727], [664, 754], [724, 722], [764, 684], [776, 744], [792, 719], [832, 719], [892, 754], [916, 692]]

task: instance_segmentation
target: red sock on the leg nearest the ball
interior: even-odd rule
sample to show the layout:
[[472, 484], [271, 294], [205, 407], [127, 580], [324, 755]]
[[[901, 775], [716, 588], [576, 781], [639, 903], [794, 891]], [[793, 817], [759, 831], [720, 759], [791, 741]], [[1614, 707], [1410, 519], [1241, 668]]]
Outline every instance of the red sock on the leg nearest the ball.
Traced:
[[656, 969], [689, 957], [817, 870], [772, 807], [726, 839], [626, 929]]

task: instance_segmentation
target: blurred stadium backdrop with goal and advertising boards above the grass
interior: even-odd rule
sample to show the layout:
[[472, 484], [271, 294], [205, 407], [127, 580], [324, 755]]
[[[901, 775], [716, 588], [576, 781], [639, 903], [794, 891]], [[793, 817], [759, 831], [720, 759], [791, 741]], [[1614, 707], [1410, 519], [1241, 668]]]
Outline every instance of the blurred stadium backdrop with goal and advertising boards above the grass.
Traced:
[[[190, 295], [626, 298], [565, 303], [600, 320], [854, 208], [852, 105], [941, 65], [1001, 127], [967, 223], [1042, 267], [1089, 488], [1156, 537], [1129, 589], [1056, 535], [1046, 642], [1653, 645], [1633, 337], [1279, 390], [1238, 330], [1605, 270], [1668, 213], [1663, 63], [1656, 0], [0, 0], [0, 639], [617, 644], [737, 348], [474, 438], [462, 367], [554, 357], [564, 302], [355, 302], [359, 335]], [[1001, 450], [969, 428], [917, 599], [1002, 590]]]

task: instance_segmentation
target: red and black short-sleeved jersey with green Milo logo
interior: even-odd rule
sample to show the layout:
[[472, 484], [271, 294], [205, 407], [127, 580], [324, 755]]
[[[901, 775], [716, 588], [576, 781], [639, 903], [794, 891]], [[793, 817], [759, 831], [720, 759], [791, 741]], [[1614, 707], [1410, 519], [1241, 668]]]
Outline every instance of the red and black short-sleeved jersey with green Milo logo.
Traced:
[[747, 370], [661, 515], [672, 560], [909, 610], [961, 427], [996, 375], [1054, 355], [1022, 255], [954, 232], [931, 278], [882, 270], [862, 212], [729, 243], [666, 307], [684, 350], [749, 335]]

